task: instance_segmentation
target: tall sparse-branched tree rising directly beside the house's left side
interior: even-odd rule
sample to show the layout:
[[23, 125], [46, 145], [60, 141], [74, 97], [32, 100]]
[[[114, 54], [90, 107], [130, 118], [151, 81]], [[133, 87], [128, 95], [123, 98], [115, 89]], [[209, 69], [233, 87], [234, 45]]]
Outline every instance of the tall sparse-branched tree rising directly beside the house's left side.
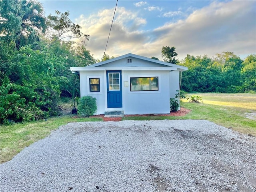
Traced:
[[[90, 35], [83, 34], [80, 31], [81, 26], [72, 23], [68, 18], [69, 12], [61, 13], [56, 10], [55, 13], [56, 16], [50, 14], [47, 17], [48, 39], [49, 46], [54, 48], [63, 61], [63, 65], [59, 66], [56, 72], [56, 75], [61, 77], [59, 81], [61, 96], [76, 98], [80, 96], [79, 77], [71, 74], [69, 68], [87, 66], [96, 62], [85, 47]], [[79, 44], [74, 42], [76, 38], [80, 40]]]

